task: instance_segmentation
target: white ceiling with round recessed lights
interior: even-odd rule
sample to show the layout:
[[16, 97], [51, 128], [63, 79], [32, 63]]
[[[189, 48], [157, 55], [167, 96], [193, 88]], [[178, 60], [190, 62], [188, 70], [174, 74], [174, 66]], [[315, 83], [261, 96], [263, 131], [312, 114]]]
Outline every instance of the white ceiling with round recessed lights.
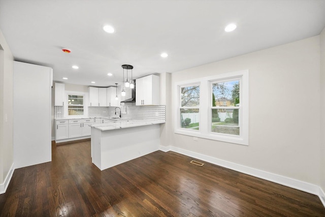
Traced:
[[[232, 22], [237, 29], [224, 32]], [[172, 73], [316, 36], [324, 26], [322, 0], [0, 0], [0, 29], [15, 60], [52, 67], [55, 81], [94, 86], [121, 83], [123, 64], [134, 66], [134, 78]]]

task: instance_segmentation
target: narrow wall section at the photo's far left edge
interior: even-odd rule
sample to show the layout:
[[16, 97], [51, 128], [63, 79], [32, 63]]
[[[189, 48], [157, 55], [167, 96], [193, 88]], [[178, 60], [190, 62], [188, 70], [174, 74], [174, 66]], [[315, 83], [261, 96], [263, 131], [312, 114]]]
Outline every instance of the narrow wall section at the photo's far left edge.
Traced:
[[13, 173], [13, 55], [0, 30], [0, 193]]

